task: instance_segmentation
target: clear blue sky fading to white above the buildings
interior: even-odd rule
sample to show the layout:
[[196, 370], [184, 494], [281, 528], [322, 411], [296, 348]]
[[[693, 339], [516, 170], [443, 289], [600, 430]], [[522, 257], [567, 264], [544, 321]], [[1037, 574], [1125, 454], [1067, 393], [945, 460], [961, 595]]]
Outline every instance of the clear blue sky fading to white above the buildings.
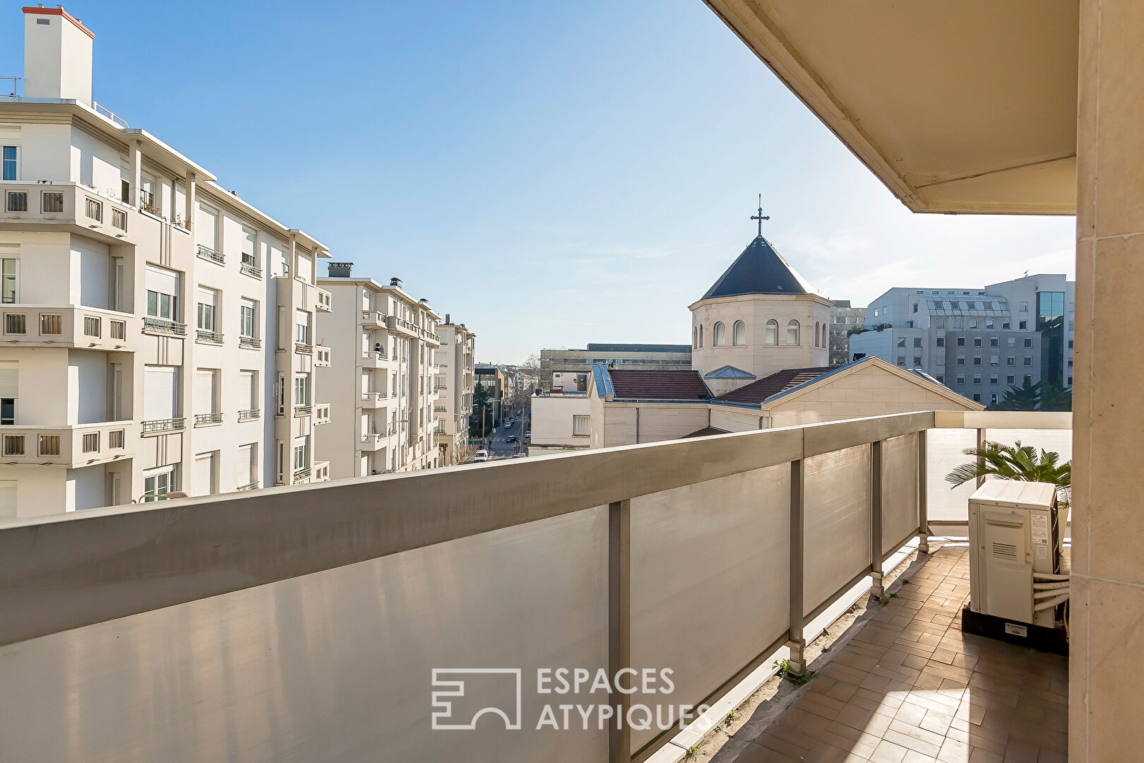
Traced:
[[97, 101], [356, 276], [400, 276], [480, 360], [689, 342], [757, 193], [832, 299], [1074, 275], [1072, 217], [907, 212], [700, 0], [66, 8]]

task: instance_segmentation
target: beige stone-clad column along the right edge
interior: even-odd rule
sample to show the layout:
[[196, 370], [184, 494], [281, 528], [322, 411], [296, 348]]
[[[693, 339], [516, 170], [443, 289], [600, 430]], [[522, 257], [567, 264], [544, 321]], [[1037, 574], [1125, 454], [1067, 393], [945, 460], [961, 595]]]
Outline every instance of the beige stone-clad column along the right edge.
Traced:
[[1144, 749], [1144, 3], [1080, 8], [1068, 760], [1095, 763]]

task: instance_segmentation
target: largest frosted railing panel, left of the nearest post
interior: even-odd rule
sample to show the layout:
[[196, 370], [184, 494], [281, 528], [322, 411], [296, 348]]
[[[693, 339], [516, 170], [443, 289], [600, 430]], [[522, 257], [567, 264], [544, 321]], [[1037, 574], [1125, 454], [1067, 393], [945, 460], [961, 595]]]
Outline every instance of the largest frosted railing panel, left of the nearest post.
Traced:
[[[604, 507], [0, 647], [2, 757], [606, 761], [606, 728], [534, 731], [607, 701], [537, 693], [537, 668], [606, 668], [606, 575]], [[434, 668], [519, 668], [522, 730], [431, 730]], [[515, 720], [515, 674], [439, 679], [464, 682], [439, 723]]]

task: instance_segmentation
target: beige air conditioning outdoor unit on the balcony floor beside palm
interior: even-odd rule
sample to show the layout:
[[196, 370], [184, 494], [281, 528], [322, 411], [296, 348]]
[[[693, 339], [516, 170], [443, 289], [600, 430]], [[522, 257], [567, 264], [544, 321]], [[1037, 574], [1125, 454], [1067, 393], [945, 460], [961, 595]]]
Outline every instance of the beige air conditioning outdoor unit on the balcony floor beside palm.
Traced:
[[[988, 479], [978, 487], [969, 499], [969, 607], [962, 629], [1064, 644], [1064, 633], [1048, 633], [1056, 630], [1059, 605], [1068, 598], [1060, 564], [1064, 530], [1056, 485]], [[1030, 626], [1039, 633], [1030, 634]]]

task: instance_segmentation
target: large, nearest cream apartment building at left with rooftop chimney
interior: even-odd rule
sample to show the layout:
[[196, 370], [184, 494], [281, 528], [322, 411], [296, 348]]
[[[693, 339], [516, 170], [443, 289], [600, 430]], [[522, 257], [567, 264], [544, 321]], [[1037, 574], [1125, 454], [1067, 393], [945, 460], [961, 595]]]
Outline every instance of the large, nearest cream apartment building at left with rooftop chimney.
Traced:
[[94, 34], [62, 8], [24, 23], [24, 94], [0, 98], [0, 518], [327, 478], [325, 247], [96, 104]]

